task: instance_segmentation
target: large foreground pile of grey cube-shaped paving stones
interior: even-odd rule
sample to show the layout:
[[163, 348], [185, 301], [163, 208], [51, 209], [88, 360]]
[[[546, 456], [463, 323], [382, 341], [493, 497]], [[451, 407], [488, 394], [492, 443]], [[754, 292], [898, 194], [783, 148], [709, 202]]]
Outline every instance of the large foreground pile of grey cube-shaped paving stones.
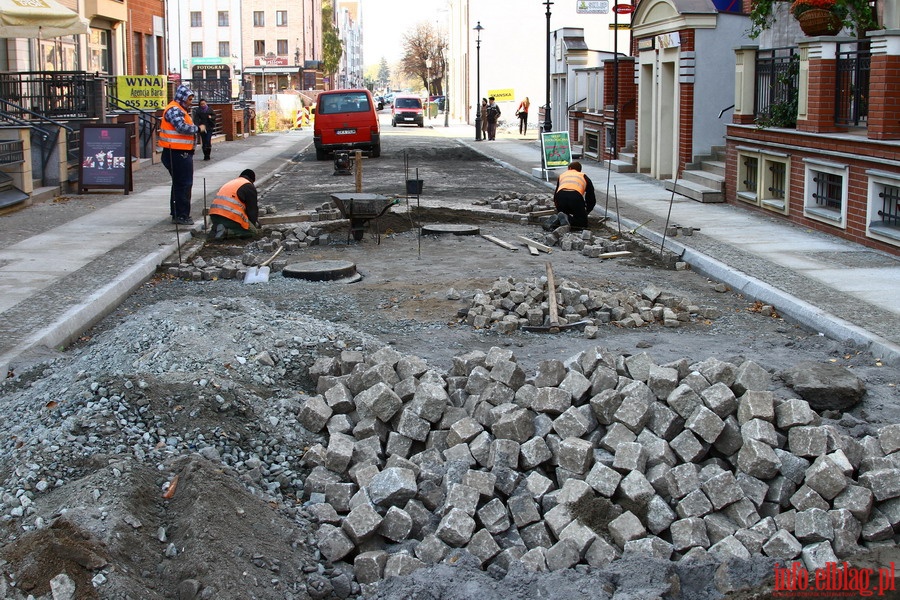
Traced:
[[361, 584], [460, 549], [501, 572], [623, 554], [812, 571], [900, 527], [900, 425], [854, 439], [752, 361], [597, 347], [529, 376], [492, 348], [443, 374], [386, 347], [310, 375], [299, 422], [327, 436], [304, 456], [305, 506]]

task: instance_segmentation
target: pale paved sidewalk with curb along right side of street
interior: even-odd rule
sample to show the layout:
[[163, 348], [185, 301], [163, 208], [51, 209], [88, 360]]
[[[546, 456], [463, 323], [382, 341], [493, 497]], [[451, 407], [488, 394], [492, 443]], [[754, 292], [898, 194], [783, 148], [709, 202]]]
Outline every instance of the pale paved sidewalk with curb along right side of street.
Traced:
[[[541, 166], [537, 135], [465, 143], [531, 176]], [[771, 304], [790, 320], [833, 339], [851, 340], [900, 365], [897, 257], [757, 211], [702, 204], [677, 194], [673, 200], [660, 181], [610, 172], [590, 159], [581, 162], [597, 191], [594, 210], [608, 215], [611, 223], [618, 220], [622, 230], [640, 226], [637, 232], [658, 246], [667, 221], [699, 229], [689, 237], [667, 237], [666, 249], [698, 273]]]

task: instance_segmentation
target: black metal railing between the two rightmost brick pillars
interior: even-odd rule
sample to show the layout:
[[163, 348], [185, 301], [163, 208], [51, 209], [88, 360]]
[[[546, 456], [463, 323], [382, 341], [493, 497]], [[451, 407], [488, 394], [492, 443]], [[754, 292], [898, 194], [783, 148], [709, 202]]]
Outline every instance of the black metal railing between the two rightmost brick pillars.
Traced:
[[838, 43], [835, 123], [857, 126], [868, 122], [871, 62], [868, 40]]

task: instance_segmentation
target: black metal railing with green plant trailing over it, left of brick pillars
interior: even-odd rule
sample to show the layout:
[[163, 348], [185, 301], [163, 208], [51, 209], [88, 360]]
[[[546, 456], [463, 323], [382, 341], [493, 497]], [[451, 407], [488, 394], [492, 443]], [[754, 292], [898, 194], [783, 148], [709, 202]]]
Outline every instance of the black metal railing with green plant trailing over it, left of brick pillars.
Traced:
[[756, 122], [766, 127], [795, 127], [800, 55], [796, 48], [772, 48], [756, 54]]

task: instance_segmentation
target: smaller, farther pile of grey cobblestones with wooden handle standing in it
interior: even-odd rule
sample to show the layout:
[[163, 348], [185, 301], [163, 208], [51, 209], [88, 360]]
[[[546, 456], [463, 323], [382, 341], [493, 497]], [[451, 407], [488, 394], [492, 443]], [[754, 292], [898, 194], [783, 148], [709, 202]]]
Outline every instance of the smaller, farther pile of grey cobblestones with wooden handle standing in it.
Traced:
[[[498, 279], [489, 290], [476, 292], [463, 318], [476, 329], [493, 328], [500, 333], [512, 333], [521, 327], [549, 326], [546, 289], [546, 277], [521, 281], [510, 277]], [[600, 290], [576, 281], [560, 280], [556, 285], [556, 303], [560, 325], [590, 321], [585, 327], [589, 339], [596, 337], [602, 325], [630, 328], [657, 323], [679, 327], [692, 318], [721, 316], [716, 308], [701, 308], [653, 286], [641, 292]]]

